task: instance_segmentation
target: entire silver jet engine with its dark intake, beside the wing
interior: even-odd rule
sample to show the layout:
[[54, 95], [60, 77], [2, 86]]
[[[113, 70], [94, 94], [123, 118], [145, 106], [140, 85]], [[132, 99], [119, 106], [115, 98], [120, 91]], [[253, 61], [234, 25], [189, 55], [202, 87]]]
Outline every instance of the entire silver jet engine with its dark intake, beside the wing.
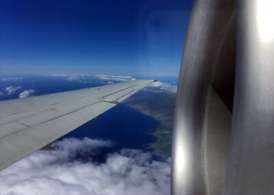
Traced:
[[237, 3], [192, 8], [173, 127], [175, 195], [274, 194], [274, 1]]

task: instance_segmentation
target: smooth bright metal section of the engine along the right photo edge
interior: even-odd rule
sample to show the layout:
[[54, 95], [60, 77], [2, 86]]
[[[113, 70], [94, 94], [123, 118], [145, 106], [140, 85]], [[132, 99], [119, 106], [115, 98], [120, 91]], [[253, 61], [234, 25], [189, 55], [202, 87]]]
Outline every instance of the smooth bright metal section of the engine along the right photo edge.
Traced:
[[232, 135], [223, 195], [274, 194], [274, 1], [237, 5]]

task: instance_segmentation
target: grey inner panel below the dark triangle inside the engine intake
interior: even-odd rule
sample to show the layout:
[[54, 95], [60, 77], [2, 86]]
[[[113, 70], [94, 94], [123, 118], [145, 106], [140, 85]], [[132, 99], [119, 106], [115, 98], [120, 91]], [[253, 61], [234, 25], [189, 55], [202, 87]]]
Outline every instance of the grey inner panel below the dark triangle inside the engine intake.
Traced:
[[221, 194], [231, 130], [232, 113], [210, 87], [203, 122], [203, 176], [205, 194]]

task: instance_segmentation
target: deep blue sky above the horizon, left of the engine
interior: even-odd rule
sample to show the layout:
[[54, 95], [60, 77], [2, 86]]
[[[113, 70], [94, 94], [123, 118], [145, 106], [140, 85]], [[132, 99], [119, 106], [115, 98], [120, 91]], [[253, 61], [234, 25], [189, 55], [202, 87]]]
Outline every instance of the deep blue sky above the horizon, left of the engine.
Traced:
[[192, 1], [1, 1], [0, 74], [177, 76]]

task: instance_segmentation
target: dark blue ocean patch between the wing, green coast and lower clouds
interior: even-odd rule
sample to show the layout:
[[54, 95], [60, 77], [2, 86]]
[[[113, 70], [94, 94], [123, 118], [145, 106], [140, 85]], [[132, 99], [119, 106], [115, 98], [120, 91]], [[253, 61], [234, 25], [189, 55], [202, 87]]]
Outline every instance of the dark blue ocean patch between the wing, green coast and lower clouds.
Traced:
[[144, 115], [123, 104], [117, 104], [114, 108], [99, 115], [96, 119], [79, 126], [61, 137], [83, 139], [108, 140], [112, 147], [101, 148], [97, 154], [92, 154], [92, 159], [98, 162], [105, 161], [106, 154], [118, 152], [123, 148], [147, 150], [147, 144], [157, 141], [151, 133], [160, 123], [148, 115]]

